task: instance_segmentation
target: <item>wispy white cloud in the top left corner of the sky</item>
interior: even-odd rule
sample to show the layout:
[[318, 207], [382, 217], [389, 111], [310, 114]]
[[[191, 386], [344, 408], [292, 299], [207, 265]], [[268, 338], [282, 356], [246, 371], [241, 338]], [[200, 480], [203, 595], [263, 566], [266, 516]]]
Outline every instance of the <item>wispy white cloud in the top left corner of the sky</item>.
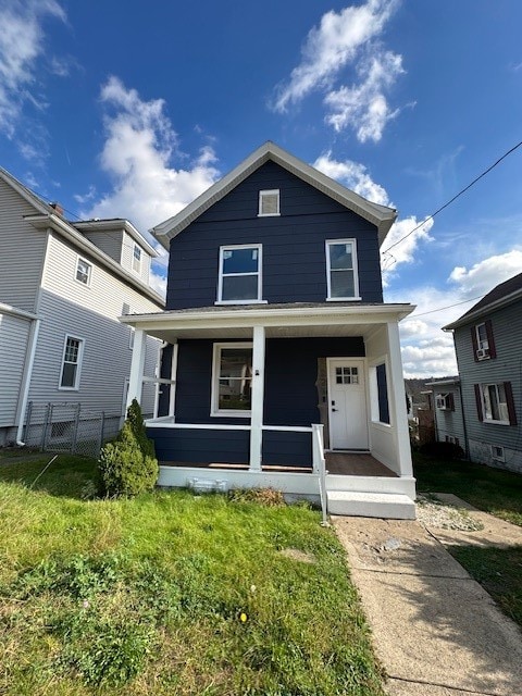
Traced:
[[42, 22], [65, 22], [55, 0], [5, 0], [0, 7], [0, 129], [12, 138], [26, 102], [46, 108], [38, 94], [37, 71], [45, 52]]

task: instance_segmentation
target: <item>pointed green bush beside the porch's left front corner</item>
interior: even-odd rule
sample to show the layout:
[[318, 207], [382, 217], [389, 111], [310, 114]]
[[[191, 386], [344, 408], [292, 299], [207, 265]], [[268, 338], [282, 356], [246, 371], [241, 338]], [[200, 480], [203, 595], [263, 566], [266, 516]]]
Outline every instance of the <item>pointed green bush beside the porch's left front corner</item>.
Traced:
[[154, 444], [147, 437], [136, 399], [116, 438], [102, 448], [98, 467], [102, 495], [137, 496], [154, 487], [159, 473]]

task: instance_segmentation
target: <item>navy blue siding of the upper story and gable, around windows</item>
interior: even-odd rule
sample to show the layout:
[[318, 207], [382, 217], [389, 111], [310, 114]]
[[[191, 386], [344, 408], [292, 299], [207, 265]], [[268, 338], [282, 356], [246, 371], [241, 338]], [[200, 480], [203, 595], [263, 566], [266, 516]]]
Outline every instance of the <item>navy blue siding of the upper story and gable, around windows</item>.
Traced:
[[[281, 215], [259, 217], [259, 191], [281, 190]], [[263, 245], [263, 299], [326, 299], [326, 239], [357, 239], [359, 289], [382, 302], [377, 229], [274, 162], [266, 162], [171, 243], [167, 309], [209, 307], [217, 299], [223, 245]]]

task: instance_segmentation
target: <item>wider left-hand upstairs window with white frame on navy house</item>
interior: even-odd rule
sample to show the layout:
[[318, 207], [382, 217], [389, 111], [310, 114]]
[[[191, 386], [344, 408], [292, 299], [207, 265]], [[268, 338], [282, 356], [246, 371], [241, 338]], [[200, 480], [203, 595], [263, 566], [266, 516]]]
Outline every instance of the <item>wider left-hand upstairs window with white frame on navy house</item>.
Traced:
[[260, 244], [221, 247], [219, 302], [247, 304], [262, 301], [261, 252]]

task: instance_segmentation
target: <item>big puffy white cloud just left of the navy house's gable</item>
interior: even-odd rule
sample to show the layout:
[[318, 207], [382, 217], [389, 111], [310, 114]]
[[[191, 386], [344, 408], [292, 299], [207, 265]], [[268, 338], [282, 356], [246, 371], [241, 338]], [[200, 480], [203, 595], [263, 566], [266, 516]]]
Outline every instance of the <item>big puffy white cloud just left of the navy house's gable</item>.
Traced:
[[[101, 166], [112, 182], [112, 189], [82, 212], [85, 217], [129, 219], [141, 234], [179, 212], [217, 178], [214, 150], [202, 147], [185, 169], [174, 167], [181, 157], [177, 136], [165, 114], [162, 99], [142, 100], [135, 89], [127, 89], [117, 77], [110, 77], [101, 88], [105, 108], [105, 142]], [[90, 202], [96, 190], [90, 187], [78, 202]], [[153, 262], [151, 285], [164, 295], [167, 254], [154, 243], [160, 258]]]

